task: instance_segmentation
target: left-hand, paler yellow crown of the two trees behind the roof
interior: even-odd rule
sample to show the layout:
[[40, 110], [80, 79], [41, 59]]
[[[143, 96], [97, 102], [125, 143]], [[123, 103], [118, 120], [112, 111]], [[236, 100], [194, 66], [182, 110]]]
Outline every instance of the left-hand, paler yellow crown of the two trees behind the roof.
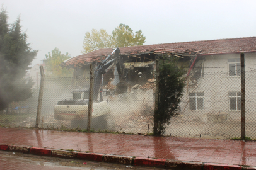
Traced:
[[95, 51], [102, 48], [111, 48], [110, 35], [106, 30], [97, 31], [93, 28], [90, 32], [85, 33], [82, 53]]

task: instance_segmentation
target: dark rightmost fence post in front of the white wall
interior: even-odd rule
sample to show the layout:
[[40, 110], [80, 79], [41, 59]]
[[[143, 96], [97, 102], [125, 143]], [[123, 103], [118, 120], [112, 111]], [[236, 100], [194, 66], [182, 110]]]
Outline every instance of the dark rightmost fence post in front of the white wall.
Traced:
[[240, 54], [241, 60], [241, 139], [245, 139], [245, 54]]

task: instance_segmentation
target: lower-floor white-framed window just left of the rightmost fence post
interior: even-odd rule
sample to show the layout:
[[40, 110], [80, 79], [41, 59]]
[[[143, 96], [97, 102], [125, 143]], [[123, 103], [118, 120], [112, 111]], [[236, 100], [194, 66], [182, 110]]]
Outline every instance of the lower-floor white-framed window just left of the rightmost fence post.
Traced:
[[241, 92], [228, 92], [230, 98], [230, 110], [241, 110]]

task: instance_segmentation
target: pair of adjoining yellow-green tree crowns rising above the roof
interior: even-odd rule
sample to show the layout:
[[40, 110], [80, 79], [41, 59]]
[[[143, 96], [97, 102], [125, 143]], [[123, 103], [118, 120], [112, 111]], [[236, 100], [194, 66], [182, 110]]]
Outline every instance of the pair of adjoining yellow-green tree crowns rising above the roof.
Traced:
[[112, 31], [112, 35], [108, 34], [103, 28], [97, 31], [95, 28], [90, 32], [86, 32], [83, 42], [83, 54], [99, 50], [102, 48], [129, 47], [134, 45], [143, 45], [146, 37], [141, 30], [134, 34], [128, 25], [120, 24]]

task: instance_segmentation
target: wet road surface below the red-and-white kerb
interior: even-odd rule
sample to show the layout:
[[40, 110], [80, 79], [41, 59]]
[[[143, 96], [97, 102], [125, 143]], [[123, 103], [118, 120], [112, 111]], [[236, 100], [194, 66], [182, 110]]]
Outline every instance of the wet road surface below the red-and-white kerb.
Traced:
[[140, 166], [125, 166], [103, 162], [82, 161], [77, 159], [60, 159], [56, 157], [35, 156], [18, 152], [0, 151], [0, 169], [158, 169]]

